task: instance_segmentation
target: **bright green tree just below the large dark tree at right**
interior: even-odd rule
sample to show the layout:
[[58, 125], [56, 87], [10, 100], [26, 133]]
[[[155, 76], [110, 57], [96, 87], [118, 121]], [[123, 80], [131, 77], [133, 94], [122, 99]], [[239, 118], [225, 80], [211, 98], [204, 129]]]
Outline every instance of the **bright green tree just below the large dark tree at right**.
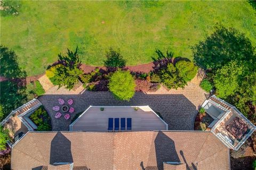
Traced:
[[230, 62], [217, 71], [214, 77], [217, 94], [220, 98], [234, 96], [241, 88], [245, 67], [237, 62]]

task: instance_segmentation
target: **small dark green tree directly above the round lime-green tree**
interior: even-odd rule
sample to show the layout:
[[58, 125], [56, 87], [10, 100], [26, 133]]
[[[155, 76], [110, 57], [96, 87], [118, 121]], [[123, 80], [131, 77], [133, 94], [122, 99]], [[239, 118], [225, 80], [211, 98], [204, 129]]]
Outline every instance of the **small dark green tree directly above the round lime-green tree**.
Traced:
[[126, 64], [126, 60], [124, 60], [123, 56], [120, 54], [120, 49], [114, 50], [110, 48], [105, 56], [107, 58], [107, 60], [104, 61], [106, 67], [124, 67]]

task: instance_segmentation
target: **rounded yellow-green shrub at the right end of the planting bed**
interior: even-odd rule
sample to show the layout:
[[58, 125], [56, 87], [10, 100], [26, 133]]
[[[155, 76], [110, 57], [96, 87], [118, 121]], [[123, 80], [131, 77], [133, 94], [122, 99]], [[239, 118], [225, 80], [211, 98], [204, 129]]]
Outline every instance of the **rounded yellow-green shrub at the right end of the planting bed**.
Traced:
[[192, 80], [197, 73], [198, 67], [193, 62], [180, 60], [175, 64], [178, 69], [180, 77], [186, 82]]

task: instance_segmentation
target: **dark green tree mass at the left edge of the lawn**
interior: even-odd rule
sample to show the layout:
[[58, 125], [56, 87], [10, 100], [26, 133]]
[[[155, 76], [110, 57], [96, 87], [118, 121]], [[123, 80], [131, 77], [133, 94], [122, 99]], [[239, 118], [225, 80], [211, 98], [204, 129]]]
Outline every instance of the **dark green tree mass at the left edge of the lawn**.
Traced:
[[[7, 47], [0, 46], [1, 77], [7, 80], [0, 82], [2, 117], [27, 101], [26, 72], [21, 70], [17, 55]], [[1, 120], [0, 120], [1, 121]]]

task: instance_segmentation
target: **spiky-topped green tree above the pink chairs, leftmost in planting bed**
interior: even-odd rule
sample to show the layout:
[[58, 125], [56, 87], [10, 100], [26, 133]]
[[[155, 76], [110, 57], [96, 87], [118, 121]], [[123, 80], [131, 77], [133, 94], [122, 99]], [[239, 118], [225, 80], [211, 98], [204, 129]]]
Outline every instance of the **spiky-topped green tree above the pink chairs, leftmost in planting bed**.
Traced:
[[77, 54], [77, 47], [75, 53], [68, 49], [67, 56], [59, 54], [60, 66], [56, 67], [55, 76], [52, 77], [52, 81], [60, 87], [65, 87], [69, 90], [73, 89], [74, 85], [78, 82], [78, 78], [83, 71], [79, 69], [81, 61]]

